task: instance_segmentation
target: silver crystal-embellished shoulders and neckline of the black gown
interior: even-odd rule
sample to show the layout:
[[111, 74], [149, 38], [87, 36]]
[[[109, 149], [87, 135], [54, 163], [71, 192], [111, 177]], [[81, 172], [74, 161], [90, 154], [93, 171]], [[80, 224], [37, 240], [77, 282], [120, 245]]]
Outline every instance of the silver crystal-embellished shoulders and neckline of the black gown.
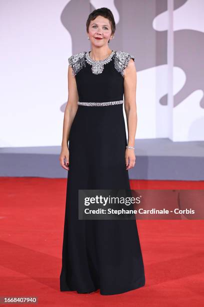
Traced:
[[70, 56], [68, 58], [68, 63], [72, 68], [73, 76], [75, 76], [83, 67], [85, 67], [86, 63], [91, 66], [92, 73], [98, 75], [102, 73], [104, 65], [109, 63], [112, 59], [114, 60], [114, 68], [121, 74], [122, 77], [124, 77], [123, 71], [127, 67], [129, 60], [134, 60], [134, 56], [128, 52], [112, 50], [111, 54], [107, 58], [97, 61], [93, 60], [89, 56], [89, 51], [83, 51]]

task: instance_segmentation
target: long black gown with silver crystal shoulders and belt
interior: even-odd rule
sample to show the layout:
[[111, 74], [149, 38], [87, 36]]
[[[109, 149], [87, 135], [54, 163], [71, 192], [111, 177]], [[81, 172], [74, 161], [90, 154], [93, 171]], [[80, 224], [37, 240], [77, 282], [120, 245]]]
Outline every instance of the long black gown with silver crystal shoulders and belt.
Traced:
[[68, 58], [79, 99], [69, 133], [60, 291], [107, 295], [145, 284], [135, 220], [78, 219], [79, 189], [130, 189], [122, 104], [130, 58], [114, 50], [102, 61], [86, 51]]

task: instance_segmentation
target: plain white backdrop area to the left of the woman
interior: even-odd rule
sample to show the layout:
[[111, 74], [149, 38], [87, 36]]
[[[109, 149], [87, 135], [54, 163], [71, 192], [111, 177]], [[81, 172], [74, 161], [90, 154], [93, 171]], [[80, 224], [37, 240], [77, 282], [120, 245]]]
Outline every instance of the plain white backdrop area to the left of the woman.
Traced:
[[0, 2], [0, 146], [61, 142], [71, 38], [60, 23], [66, 0]]

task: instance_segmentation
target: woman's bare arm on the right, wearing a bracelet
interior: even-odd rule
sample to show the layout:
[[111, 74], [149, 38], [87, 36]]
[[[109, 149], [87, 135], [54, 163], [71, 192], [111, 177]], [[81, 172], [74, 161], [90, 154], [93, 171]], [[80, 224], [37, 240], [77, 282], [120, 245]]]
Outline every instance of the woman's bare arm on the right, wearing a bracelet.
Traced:
[[[127, 67], [124, 69], [124, 110], [127, 120], [128, 141], [127, 145], [134, 147], [134, 140], [137, 126], [136, 113], [136, 68], [134, 61], [129, 60]], [[135, 154], [134, 149], [125, 149], [126, 170], [134, 167]]]

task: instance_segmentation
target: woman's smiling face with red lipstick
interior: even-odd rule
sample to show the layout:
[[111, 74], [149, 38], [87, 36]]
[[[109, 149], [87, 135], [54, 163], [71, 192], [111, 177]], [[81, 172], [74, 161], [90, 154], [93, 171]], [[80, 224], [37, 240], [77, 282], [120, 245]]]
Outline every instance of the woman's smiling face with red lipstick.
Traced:
[[[94, 46], [107, 45], [108, 40], [112, 38], [109, 20], [102, 16], [97, 16], [94, 20], [91, 20], [88, 27], [88, 36]], [[101, 40], [97, 40], [97, 37], [100, 37]]]

